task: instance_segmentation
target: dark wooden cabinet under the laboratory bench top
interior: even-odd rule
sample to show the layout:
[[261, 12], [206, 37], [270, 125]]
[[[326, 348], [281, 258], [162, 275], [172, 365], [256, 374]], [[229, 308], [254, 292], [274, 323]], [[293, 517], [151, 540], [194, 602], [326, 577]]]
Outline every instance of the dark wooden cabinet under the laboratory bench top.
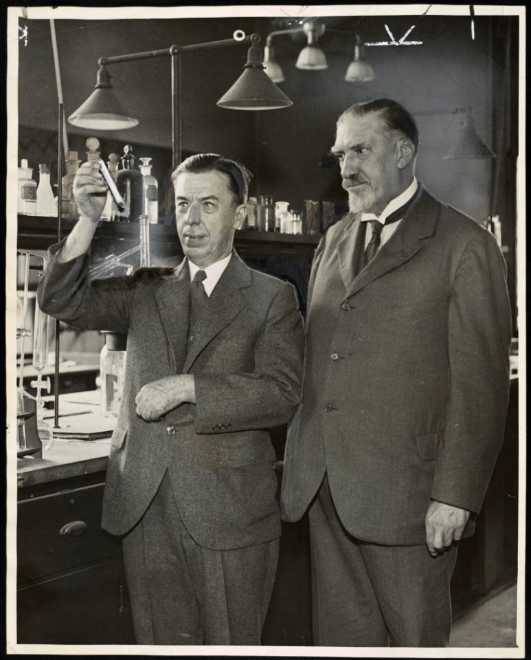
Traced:
[[121, 541], [100, 527], [103, 478], [19, 492], [19, 643], [135, 643]]

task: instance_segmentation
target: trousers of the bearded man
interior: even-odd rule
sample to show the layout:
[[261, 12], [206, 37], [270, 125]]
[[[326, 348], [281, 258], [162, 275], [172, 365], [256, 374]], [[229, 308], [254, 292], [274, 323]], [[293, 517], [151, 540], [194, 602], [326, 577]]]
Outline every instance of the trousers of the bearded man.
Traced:
[[314, 641], [320, 646], [444, 647], [451, 628], [454, 544], [385, 546], [341, 525], [325, 477], [310, 508]]

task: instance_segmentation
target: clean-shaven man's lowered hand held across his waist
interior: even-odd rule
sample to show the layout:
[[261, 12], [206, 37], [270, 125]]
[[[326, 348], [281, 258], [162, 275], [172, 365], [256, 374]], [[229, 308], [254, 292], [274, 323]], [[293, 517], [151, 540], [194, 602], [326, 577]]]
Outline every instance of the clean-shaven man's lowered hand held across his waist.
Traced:
[[135, 403], [139, 417], [145, 421], [157, 421], [181, 404], [195, 403], [194, 377], [181, 374], [154, 380], [139, 391]]

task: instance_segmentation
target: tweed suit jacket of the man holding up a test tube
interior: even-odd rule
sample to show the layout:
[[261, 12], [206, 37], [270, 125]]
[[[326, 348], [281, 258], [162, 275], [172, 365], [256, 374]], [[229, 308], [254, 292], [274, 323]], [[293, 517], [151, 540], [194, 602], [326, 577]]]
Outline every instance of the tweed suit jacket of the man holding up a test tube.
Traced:
[[[166, 470], [185, 527], [216, 550], [278, 538], [275, 452], [267, 429], [300, 399], [304, 331], [295, 290], [233, 252], [188, 342], [188, 262], [174, 273], [88, 280], [87, 255], [49, 250], [41, 309], [82, 329], [127, 333], [122, 408], [111, 441], [102, 525], [115, 534], [142, 517]], [[135, 396], [159, 378], [194, 375], [196, 405], [146, 422]]]

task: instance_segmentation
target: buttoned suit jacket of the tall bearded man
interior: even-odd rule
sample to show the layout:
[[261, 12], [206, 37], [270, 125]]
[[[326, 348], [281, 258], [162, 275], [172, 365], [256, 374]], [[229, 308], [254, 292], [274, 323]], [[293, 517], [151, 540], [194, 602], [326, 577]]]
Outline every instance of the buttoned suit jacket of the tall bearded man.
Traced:
[[426, 190], [355, 275], [362, 239], [350, 215], [317, 248], [282, 512], [298, 520], [326, 470], [352, 536], [422, 544], [431, 499], [479, 512], [503, 441], [506, 265], [492, 234]]

